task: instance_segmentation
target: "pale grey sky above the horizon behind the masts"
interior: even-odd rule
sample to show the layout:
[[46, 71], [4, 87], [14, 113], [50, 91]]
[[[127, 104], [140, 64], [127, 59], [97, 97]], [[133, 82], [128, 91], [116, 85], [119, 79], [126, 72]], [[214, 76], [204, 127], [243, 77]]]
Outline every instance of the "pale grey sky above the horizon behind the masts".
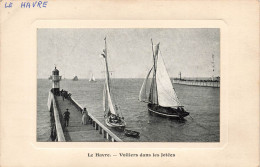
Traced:
[[[113, 78], [145, 78], [153, 64], [152, 44], [160, 50], [170, 77], [211, 77], [220, 74], [220, 30], [171, 29], [38, 29], [37, 77], [48, 78], [54, 66], [66, 78], [104, 78], [101, 56], [107, 39], [108, 66]], [[214, 54], [215, 72], [212, 70]]]

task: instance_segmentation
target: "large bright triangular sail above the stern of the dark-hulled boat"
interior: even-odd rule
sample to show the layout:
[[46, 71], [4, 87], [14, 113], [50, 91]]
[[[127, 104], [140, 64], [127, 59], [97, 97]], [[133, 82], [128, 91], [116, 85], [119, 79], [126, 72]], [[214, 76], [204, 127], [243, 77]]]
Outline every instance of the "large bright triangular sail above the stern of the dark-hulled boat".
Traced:
[[161, 52], [158, 53], [156, 68], [156, 83], [158, 93], [158, 103], [163, 107], [177, 107], [181, 103], [173, 89], [170, 77], [164, 65]]

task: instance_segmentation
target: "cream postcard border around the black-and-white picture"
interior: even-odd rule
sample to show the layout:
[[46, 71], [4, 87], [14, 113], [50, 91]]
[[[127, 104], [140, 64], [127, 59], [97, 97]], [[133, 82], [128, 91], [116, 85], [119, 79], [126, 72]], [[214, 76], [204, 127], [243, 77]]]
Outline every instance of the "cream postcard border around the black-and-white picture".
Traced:
[[[0, 2], [0, 166], [259, 166], [258, 1], [28, 2]], [[37, 142], [39, 28], [220, 28], [220, 142]]]

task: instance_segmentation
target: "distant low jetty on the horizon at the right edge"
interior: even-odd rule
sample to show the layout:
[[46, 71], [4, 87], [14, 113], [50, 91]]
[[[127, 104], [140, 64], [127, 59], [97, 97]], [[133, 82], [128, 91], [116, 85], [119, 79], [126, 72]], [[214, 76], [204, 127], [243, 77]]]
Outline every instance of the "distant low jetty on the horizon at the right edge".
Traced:
[[220, 87], [219, 81], [209, 81], [209, 80], [179, 80], [174, 79], [173, 83], [181, 85], [192, 85], [192, 86], [204, 86], [204, 87]]

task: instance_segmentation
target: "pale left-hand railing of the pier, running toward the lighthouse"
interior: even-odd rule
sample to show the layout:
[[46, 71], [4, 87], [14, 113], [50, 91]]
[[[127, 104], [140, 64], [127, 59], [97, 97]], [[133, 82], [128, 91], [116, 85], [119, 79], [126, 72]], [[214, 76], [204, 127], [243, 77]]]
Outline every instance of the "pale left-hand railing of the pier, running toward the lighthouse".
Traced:
[[53, 109], [53, 116], [54, 116], [54, 120], [55, 120], [55, 132], [57, 135], [57, 141], [58, 142], [65, 142], [65, 136], [63, 133], [63, 129], [60, 123], [60, 117], [59, 117], [59, 110], [57, 108], [56, 105], [56, 100], [55, 97], [53, 95], [53, 93], [50, 91], [49, 92], [49, 98], [48, 98], [48, 108], [51, 111], [51, 109]]

